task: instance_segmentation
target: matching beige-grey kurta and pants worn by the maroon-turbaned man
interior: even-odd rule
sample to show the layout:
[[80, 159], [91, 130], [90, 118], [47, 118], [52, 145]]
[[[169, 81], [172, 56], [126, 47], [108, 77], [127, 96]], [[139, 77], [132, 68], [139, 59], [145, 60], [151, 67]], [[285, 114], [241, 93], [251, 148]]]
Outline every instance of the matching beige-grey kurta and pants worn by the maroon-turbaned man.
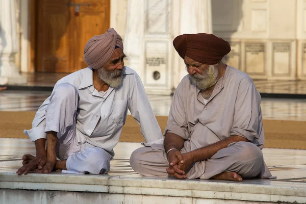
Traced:
[[[219, 150], [211, 159], [192, 164], [189, 179], [210, 179], [235, 171], [250, 179], [271, 174], [263, 161], [264, 130], [261, 96], [253, 81], [242, 71], [227, 66], [217, 82], [207, 104], [203, 104], [200, 89], [190, 82], [188, 75], [177, 86], [169, 112], [166, 133], [185, 139], [181, 153], [208, 146], [232, 135], [250, 142], [234, 142]], [[168, 167], [163, 145], [147, 145], [131, 156], [133, 169], [142, 175], [166, 176]], [[157, 165], [158, 164], [158, 165]]]

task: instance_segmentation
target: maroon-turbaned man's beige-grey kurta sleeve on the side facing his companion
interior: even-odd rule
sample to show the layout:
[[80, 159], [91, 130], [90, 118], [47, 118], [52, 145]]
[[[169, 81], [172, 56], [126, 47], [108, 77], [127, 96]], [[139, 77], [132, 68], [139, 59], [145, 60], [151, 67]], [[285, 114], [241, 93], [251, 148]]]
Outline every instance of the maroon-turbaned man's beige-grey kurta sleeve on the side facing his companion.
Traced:
[[183, 101], [183, 81], [177, 86], [173, 99], [171, 108], [169, 111], [167, 127], [164, 131], [166, 133], [174, 133], [181, 136], [183, 139], [187, 140], [189, 137], [188, 124], [186, 119], [186, 113], [184, 109]]

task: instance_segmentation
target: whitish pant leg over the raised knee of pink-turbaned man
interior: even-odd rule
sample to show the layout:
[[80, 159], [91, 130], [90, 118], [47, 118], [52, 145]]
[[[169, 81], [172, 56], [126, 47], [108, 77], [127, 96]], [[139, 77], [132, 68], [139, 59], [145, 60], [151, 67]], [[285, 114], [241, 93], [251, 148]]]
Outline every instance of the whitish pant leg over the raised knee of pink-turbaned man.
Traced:
[[73, 85], [64, 83], [55, 87], [45, 113], [45, 132], [57, 132], [59, 139], [56, 152], [60, 160], [81, 151], [75, 142], [75, 125], [79, 93]]

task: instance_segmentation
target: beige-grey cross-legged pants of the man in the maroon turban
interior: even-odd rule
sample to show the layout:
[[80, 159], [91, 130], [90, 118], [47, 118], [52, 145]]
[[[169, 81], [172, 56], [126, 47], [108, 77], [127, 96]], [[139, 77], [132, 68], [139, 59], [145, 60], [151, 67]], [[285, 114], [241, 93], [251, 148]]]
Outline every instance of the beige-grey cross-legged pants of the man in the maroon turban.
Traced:
[[[181, 154], [188, 152], [185, 147]], [[164, 145], [153, 144], [136, 149], [131, 156], [132, 168], [144, 176], [168, 176], [166, 168], [169, 166]], [[266, 165], [259, 147], [250, 142], [234, 142], [226, 148], [220, 149], [211, 159], [192, 164], [187, 172], [188, 179], [210, 179], [223, 172], [236, 172], [243, 179], [252, 179], [262, 175]], [[267, 169], [266, 169], [267, 170]]]

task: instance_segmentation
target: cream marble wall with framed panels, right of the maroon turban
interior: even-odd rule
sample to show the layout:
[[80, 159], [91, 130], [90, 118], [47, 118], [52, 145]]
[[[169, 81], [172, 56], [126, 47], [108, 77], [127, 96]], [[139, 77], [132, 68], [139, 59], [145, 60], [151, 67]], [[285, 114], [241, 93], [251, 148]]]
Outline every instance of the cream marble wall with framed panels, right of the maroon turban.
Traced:
[[[297, 2], [212, 1], [214, 34], [232, 45], [227, 63], [246, 72], [252, 79], [299, 79], [296, 66], [299, 52]], [[228, 12], [228, 8], [235, 12]]]

